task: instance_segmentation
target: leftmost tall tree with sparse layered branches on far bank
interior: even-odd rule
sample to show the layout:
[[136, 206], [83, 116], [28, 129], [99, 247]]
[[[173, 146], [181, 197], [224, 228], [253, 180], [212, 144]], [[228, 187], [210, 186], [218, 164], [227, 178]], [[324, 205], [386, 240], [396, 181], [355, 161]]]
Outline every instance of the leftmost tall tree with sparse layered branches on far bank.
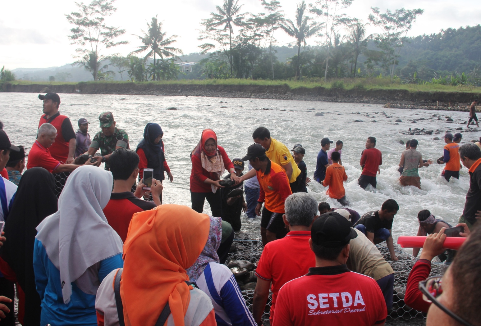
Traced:
[[[89, 70], [94, 80], [97, 80], [101, 62], [105, 59], [101, 54], [101, 48], [112, 48], [119, 44], [127, 44], [127, 41], [114, 39], [125, 33], [125, 29], [114, 26], [107, 26], [105, 18], [111, 16], [117, 8], [114, 7], [115, 0], [93, 0], [88, 5], [83, 2], [75, 2], [78, 12], [71, 12], [65, 15], [67, 21], [75, 25], [68, 37], [72, 43], [80, 47], [76, 49], [78, 60], [76, 64], [83, 65]], [[100, 69], [99, 69], [100, 68]]]

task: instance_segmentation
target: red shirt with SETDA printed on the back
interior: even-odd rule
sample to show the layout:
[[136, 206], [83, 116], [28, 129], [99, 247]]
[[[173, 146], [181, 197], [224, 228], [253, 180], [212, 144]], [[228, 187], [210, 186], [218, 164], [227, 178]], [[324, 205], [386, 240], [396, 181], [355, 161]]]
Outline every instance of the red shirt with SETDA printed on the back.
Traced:
[[371, 326], [384, 323], [386, 316], [378, 283], [338, 265], [310, 268], [307, 275], [284, 284], [273, 325]]

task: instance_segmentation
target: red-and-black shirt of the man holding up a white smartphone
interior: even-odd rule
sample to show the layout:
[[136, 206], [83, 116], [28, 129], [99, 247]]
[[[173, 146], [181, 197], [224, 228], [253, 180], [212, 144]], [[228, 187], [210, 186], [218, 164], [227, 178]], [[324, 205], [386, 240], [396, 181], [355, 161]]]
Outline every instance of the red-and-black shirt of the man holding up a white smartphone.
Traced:
[[110, 201], [103, 209], [107, 222], [118, 233], [122, 241], [127, 238], [128, 226], [132, 215], [148, 211], [156, 205], [152, 201], [144, 201], [134, 196], [130, 191], [113, 192]]

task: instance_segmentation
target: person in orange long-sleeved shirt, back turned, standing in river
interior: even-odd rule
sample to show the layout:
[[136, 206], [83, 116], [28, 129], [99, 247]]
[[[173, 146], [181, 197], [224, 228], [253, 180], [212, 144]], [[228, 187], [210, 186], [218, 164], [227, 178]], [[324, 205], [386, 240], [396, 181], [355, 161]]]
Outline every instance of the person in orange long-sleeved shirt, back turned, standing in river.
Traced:
[[330, 198], [334, 198], [341, 203], [342, 206], [349, 205], [346, 200], [346, 190], [344, 189], [344, 181], [347, 181], [346, 170], [339, 164], [341, 154], [337, 151], [333, 151], [331, 154], [332, 164], [326, 169], [326, 178], [322, 182], [324, 187], [328, 187], [326, 194]]

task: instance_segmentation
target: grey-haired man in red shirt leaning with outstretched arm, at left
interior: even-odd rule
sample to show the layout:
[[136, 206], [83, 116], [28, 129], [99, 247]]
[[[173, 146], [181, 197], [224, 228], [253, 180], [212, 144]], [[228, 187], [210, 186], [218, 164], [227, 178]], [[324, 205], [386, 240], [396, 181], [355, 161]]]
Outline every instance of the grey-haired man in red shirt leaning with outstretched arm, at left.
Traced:
[[[62, 164], [55, 160], [49, 148], [55, 143], [57, 129], [51, 124], [45, 123], [38, 128], [38, 136], [35, 143], [32, 145], [28, 153], [27, 169], [40, 166], [51, 173], [72, 172], [81, 165], [76, 164]], [[87, 160], [84, 165], [95, 165], [97, 163], [90, 163]]]

